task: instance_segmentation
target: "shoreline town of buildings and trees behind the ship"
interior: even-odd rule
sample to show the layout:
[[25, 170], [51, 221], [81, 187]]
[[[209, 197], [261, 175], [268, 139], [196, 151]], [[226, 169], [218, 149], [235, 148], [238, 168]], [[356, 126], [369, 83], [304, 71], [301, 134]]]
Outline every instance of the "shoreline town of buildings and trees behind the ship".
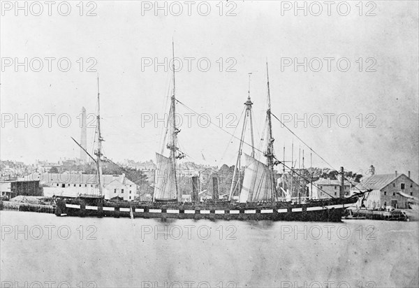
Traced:
[[[37, 160], [34, 164], [21, 161], [0, 161], [1, 199], [10, 200], [17, 196], [68, 196], [94, 194], [97, 183], [96, 167], [83, 159], [60, 159], [57, 162]], [[244, 167], [242, 167], [243, 170]], [[191, 201], [192, 178], [198, 177], [201, 200], [212, 199], [213, 178], [218, 183], [219, 199], [227, 198], [233, 179], [235, 167], [223, 164], [205, 166], [193, 162], [179, 164], [179, 187], [183, 201]], [[134, 161], [124, 159], [122, 162], [103, 165], [103, 191], [105, 199], [123, 201], [152, 201], [156, 164], [153, 160]], [[411, 172], [377, 174], [371, 166], [366, 175], [344, 172], [344, 180], [338, 171], [330, 168], [305, 168], [289, 171], [275, 171], [277, 187], [289, 188], [290, 179], [300, 197], [311, 199], [330, 199], [339, 196], [343, 183], [345, 196], [351, 196], [361, 190], [371, 190], [360, 206], [379, 210], [388, 206], [392, 208], [409, 208], [408, 196], [419, 196], [419, 185], [411, 179]], [[299, 176], [296, 176], [299, 175]], [[300, 177], [305, 175], [306, 177]], [[242, 179], [241, 179], [242, 180]]]

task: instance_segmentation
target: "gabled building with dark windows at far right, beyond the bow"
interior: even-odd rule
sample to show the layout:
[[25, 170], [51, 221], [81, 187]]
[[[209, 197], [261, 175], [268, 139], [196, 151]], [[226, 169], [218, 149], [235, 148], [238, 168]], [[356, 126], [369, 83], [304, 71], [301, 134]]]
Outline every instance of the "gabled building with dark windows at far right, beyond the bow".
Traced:
[[351, 194], [355, 192], [372, 189], [371, 192], [365, 194], [365, 199], [359, 206], [365, 206], [367, 209], [378, 209], [392, 206], [393, 208], [409, 208], [408, 199], [398, 194], [403, 192], [410, 196], [419, 196], [419, 185], [408, 175], [397, 174], [380, 174], [371, 175], [362, 178], [359, 185], [351, 189]]

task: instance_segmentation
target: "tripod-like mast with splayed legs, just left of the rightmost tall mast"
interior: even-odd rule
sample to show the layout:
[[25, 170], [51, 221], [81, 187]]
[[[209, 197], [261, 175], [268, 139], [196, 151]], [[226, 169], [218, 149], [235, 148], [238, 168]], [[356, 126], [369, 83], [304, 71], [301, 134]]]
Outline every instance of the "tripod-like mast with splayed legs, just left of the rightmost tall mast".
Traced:
[[[251, 106], [253, 105], [251, 99], [250, 99], [250, 75], [249, 73], [249, 90], [247, 91], [247, 101], [244, 103], [246, 105], [246, 113], [244, 114], [244, 121], [243, 121], [243, 127], [242, 127], [242, 135], [240, 136], [240, 145], [239, 145], [239, 152], [237, 154], [237, 160], [235, 164], [235, 169], [233, 172], [233, 180], [231, 181], [231, 187], [230, 187], [230, 195], [228, 196], [228, 199], [231, 200], [231, 197], [233, 197], [235, 187], [240, 187], [240, 158], [242, 156], [242, 149], [243, 149], [243, 143], [244, 143], [244, 131], [246, 130], [247, 126], [247, 117], [249, 117], [250, 120], [250, 134], [251, 134], [251, 157], [255, 156], [255, 145], [253, 140], [253, 120], [252, 120], [252, 113], [251, 113]], [[237, 183], [234, 182], [236, 174], [238, 171], [238, 178]]]

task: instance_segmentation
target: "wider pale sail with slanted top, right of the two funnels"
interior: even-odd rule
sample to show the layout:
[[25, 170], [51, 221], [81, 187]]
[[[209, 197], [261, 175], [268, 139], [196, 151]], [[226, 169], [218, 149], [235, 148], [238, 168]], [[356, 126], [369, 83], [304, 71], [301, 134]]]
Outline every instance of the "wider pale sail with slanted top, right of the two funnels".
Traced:
[[240, 203], [272, 201], [270, 169], [262, 162], [245, 154], [246, 167]]

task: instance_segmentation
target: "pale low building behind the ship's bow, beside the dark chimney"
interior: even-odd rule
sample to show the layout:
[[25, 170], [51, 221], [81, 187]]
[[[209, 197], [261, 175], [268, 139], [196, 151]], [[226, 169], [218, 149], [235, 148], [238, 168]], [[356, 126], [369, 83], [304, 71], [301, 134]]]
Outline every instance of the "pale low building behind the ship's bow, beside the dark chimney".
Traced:
[[[341, 181], [330, 178], [319, 178], [313, 185], [307, 184], [309, 196], [312, 199], [329, 199], [339, 197]], [[313, 191], [311, 191], [313, 189]], [[351, 189], [351, 182], [344, 181], [344, 195], [348, 195]]]

